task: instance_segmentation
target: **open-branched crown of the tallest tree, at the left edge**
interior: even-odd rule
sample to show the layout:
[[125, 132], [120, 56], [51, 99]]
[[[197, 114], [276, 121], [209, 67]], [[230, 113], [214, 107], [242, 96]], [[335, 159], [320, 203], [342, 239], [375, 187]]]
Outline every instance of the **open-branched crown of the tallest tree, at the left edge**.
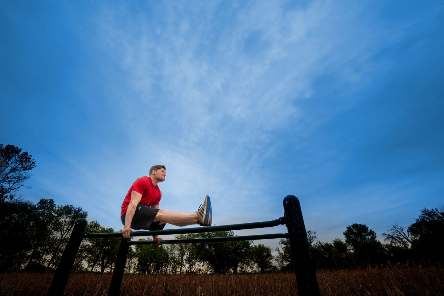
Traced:
[[0, 201], [12, 199], [12, 193], [20, 187], [31, 188], [23, 184], [31, 178], [30, 170], [36, 162], [28, 152], [21, 152], [17, 146], [0, 144]]

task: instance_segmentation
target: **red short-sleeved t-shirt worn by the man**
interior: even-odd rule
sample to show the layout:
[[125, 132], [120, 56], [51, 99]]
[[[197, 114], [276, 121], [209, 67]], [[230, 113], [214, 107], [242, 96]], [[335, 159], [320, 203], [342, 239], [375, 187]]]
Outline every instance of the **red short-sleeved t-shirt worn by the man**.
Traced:
[[136, 191], [142, 194], [142, 198], [140, 199], [142, 205], [159, 205], [159, 201], [162, 198], [162, 192], [160, 192], [159, 186], [153, 185], [150, 177], [140, 177], [134, 181], [130, 190], [128, 190], [127, 196], [125, 196], [125, 199], [123, 200], [120, 216], [127, 212], [128, 205], [131, 201], [131, 191]]

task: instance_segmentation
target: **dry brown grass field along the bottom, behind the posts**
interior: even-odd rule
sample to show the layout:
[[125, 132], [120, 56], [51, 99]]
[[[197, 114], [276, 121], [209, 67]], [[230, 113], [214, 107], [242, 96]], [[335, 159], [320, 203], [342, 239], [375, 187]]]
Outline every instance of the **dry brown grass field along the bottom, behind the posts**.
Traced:
[[[317, 272], [323, 296], [444, 296], [444, 268], [408, 265]], [[0, 296], [44, 295], [48, 273], [0, 274]], [[106, 296], [111, 274], [72, 274], [65, 296]], [[266, 296], [297, 295], [293, 273], [241, 275], [125, 275], [124, 296]]]

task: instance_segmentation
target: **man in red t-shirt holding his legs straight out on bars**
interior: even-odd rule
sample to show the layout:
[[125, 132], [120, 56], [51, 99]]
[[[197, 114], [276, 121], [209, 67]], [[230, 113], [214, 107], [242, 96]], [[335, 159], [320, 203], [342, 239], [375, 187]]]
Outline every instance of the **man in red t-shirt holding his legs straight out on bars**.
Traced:
[[[165, 227], [165, 223], [177, 226], [191, 224], [211, 226], [212, 209], [208, 195], [197, 212], [194, 213], [159, 209], [162, 193], [157, 184], [165, 181], [165, 171], [166, 168], [163, 165], [152, 166], [149, 177], [138, 178], [128, 190], [122, 204], [122, 211], [120, 212], [120, 218], [124, 225], [123, 237], [131, 237], [131, 228], [137, 230], [160, 230]], [[157, 235], [154, 235], [153, 239], [158, 244], [162, 241]]]

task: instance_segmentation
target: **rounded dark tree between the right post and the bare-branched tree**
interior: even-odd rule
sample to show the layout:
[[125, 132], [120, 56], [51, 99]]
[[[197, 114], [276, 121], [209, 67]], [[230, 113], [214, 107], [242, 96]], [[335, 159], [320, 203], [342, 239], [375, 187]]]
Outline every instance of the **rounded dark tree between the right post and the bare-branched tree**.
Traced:
[[345, 243], [353, 249], [353, 258], [359, 263], [381, 260], [384, 253], [376, 233], [365, 224], [353, 223], [343, 232]]

